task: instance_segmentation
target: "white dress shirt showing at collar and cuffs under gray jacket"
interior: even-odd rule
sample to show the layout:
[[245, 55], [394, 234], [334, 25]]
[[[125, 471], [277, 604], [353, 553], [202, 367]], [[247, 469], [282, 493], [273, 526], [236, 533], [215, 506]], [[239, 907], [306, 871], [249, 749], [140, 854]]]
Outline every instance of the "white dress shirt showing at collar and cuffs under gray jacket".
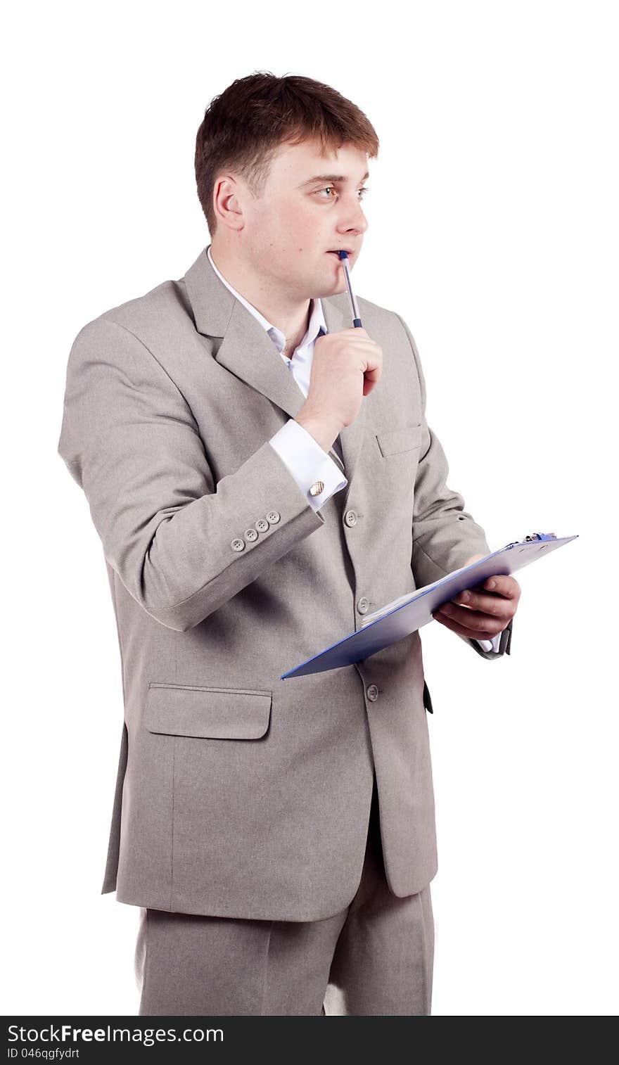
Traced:
[[[235, 299], [243, 304], [243, 307], [247, 308], [249, 313], [254, 315], [268, 333], [300, 391], [307, 398], [314, 343], [322, 333], [328, 332], [321, 300], [317, 297], [310, 300], [311, 310], [306, 334], [289, 359], [288, 356], [282, 354], [286, 347], [286, 337], [281, 330], [277, 326], [271, 325], [264, 315], [249, 304], [240, 292], [237, 292], [223, 274], [219, 273], [213, 262], [210, 245], [207, 249], [207, 255], [219, 280], [230, 290]], [[288, 466], [302, 492], [305, 493], [306, 499], [314, 510], [317, 511], [321, 507], [324, 507], [325, 503], [330, 499], [335, 492], [339, 492], [348, 484], [337, 463], [321, 447], [319, 442], [314, 440], [312, 435], [307, 429], [304, 429], [303, 425], [299, 425], [293, 417], [289, 419], [286, 425], [282, 425], [271, 437], [268, 443], [275, 448], [282, 462]], [[333, 442], [333, 450], [342, 459], [343, 469], [344, 463], [339, 437]], [[325, 487], [319, 495], [310, 495], [310, 487], [317, 480], [322, 480]], [[501, 633], [498, 633], [492, 640], [477, 640], [477, 642], [484, 651], [498, 651]]]

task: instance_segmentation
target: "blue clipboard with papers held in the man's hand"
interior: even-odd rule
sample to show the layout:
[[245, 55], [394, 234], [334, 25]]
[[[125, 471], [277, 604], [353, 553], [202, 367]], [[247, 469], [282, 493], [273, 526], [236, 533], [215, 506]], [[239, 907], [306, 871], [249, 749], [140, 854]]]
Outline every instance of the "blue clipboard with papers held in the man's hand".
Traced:
[[[282, 673], [281, 679], [286, 681], [290, 676], [307, 676], [308, 673], [323, 673], [329, 669], [341, 669], [343, 666], [353, 666], [354, 662], [369, 658], [370, 655], [381, 651], [382, 648], [414, 633], [422, 625], [427, 625], [429, 621], [434, 620], [431, 617], [434, 611], [443, 603], [454, 599], [458, 592], [480, 585], [487, 577], [500, 573], [516, 573], [517, 570], [528, 566], [530, 562], [536, 562], [538, 558], [543, 558], [544, 555], [550, 555], [551, 552], [563, 547], [570, 540], [576, 539], [577, 535], [557, 538], [554, 532], [534, 532], [533, 536], [527, 536], [524, 540], [508, 543], [480, 558], [477, 562], [447, 573], [446, 576], [431, 585], [418, 588], [417, 591], [403, 596], [405, 602], [394, 601], [397, 605], [387, 610], [386, 613], [381, 613], [381, 617], [374, 621], [369, 620], [355, 633], [338, 640], [337, 643], [331, 643], [329, 648], [313, 655], [312, 658], [308, 658], [300, 666], [295, 666], [288, 673]], [[385, 609], [382, 607], [382, 610]], [[369, 617], [372, 618], [371, 615]]]

